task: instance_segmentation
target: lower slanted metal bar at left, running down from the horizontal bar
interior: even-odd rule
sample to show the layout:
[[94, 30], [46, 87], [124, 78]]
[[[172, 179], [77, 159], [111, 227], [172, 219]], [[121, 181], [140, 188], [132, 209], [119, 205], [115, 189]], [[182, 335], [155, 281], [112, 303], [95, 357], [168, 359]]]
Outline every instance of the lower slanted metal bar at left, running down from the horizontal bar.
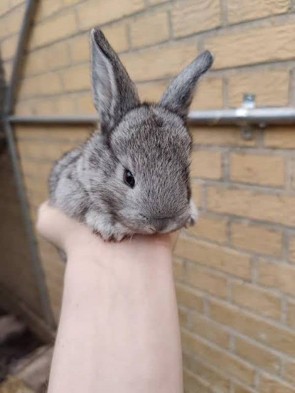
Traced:
[[38, 288], [40, 292], [40, 302], [46, 322], [49, 324], [49, 326], [53, 327], [55, 326], [55, 322], [49, 306], [47, 289], [45, 286], [45, 278], [43, 275], [43, 271], [41, 269], [39, 254], [35, 243], [34, 232], [33, 232], [32, 223], [29, 214], [29, 206], [27, 202], [26, 193], [23, 187], [22, 173], [19, 167], [18, 154], [14, 143], [13, 131], [8, 119], [3, 121], [3, 126], [4, 126], [5, 136], [8, 142], [10, 157], [11, 157], [13, 171], [14, 171], [14, 177], [17, 184], [18, 196], [22, 208], [24, 221], [25, 221], [26, 233], [29, 240], [33, 271], [34, 271], [35, 278], [38, 282]]

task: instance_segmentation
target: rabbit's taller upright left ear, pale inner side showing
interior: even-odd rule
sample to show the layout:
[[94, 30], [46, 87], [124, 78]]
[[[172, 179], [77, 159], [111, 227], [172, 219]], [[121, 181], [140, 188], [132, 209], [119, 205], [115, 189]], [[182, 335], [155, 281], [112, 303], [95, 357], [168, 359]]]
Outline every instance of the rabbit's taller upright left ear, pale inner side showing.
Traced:
[[140, 101], [127, 71], [101, 30], [92, 29], [90, 43], [94, 106], [101, 130], [107, 133]]

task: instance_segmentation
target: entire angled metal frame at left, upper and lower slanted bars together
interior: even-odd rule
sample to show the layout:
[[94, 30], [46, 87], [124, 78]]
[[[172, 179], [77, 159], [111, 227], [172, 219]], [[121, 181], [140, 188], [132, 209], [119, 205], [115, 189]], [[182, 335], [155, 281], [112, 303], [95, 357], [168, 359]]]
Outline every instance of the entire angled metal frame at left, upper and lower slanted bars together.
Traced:
[[11, 157], [14, 177], [16, 181], [18, 196], [20, 199], [21, 209], [24, 217], [26, 233], [28, 236], [29, 247], [31, 251], [31, 258], [33, 264], [33, 271], [37, 280], [39, 293], [40, 293], [40, 303], [42, 307], [42, 313], [45, 321], [48, 325], [53, 328], [55, 327], [54, 317], [50, 308], [49, 298], [47, 294], [47, 288], [45, 284], [45, 278], [41, 268], [39, 254], [37, 246], [35, 243], [35, 236], [30, 220], [29, 205], [27, 202], [26, 193], [24, 190], [24, 185], [22, 181], [22, 173], [19, 166], [19, 159], [17, 150], [15, 147], [14, 135], [12, 130], [12, 124], [9, 121], [9, 116], [14, 111], [16, 92], [20, 78], [20, 71], [22, 67], [22, 60], [26, 50], [27, 40], [29, 37], [29, 31], [32, 24], [33, 17], [35, 15], [36, 5], [38, 0], [27, 0], [26, 10], [22, 22], [22, 26], [19, 34], [19, 41], [17, 50], [13, 60], [13, 69], [10, 85], [8, 86], [5, 94], [4, 100], [4, 117], [1, 119], [4, 127], [5, 136], [8, 143], [9, 153]]

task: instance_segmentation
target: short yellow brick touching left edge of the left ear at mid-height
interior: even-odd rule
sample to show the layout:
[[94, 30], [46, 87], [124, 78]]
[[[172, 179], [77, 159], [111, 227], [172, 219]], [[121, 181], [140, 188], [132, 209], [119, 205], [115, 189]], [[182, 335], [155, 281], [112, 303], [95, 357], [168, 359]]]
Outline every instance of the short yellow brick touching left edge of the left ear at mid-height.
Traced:
[[90, 89], [90, 65], [82, 64], [61, 72], [63, 85], [67, 91]]

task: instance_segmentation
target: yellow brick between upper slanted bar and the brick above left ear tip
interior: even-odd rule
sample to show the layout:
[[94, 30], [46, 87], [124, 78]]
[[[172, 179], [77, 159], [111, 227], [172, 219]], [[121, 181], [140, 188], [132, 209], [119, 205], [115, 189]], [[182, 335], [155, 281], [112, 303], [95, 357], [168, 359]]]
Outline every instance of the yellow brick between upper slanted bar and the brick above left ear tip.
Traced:
[[29, 49], [68, 37], [76, 31], [77, 25], [74, 10], [66, 10], [66, 12], [55, 15], [33, 28]]

